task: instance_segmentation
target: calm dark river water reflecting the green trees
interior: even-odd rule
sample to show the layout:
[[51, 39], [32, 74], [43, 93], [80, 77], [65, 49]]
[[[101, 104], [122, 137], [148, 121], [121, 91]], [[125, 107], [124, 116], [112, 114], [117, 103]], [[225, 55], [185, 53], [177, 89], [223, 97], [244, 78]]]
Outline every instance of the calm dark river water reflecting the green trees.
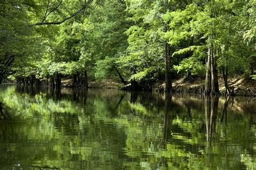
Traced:
[[256, 169], [254, 98], [0, 87], [0, 169]]

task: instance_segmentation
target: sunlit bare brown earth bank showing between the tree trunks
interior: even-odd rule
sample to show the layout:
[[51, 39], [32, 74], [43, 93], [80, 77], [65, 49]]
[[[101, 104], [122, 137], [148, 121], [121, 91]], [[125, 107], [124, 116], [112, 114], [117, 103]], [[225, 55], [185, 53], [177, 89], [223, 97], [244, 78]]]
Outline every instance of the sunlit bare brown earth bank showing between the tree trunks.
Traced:
[[[177, 93], [202, 94], [204, 92], [204, 81], [203, 77], [179, 78], [173, 80], [173, 91]], [[229, 78], [228, 85], [234, 91], [235, 96], [256, 96], [256, 80], [238, 76]], [[71, 87], [72, 79], [63, 80], [62, 86]], [[124, 89], [122, 83], [113, 80], [90, 81], [89, 87], [91, 89]], [[157, 87], [154, 87], [153, 90], [157, 91]], [[219, 90], [224, 95], [225, 85], [221, 77], [219, 78]]]

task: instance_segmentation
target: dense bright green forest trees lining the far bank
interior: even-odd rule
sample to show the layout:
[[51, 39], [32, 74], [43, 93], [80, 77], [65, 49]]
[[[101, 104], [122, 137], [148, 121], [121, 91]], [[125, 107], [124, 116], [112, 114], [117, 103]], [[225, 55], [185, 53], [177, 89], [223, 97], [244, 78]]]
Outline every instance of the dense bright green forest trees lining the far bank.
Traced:
[[0, 83], [170, 92], [198, 76], [232, 94], [229, 77], [256, 79], [255, 31], [255, 0], [0, 0]]

